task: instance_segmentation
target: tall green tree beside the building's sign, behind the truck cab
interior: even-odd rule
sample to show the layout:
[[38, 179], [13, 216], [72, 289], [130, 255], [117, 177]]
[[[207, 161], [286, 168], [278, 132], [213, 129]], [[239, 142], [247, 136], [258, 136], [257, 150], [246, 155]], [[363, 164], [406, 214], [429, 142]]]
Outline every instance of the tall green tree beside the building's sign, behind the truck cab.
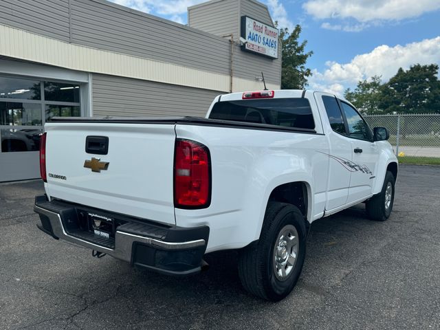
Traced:
[[280, 29], [282, 45], [281, 89], [304, 89], [307, 86], [307, 77], [311, 76], [311, 70], [305, 67], [305, 63], [313, 52], [305, 52], [307, 41], [299, 43], [300, 33], [300, 25], [296, 25], [291, 34], [287, 28]]

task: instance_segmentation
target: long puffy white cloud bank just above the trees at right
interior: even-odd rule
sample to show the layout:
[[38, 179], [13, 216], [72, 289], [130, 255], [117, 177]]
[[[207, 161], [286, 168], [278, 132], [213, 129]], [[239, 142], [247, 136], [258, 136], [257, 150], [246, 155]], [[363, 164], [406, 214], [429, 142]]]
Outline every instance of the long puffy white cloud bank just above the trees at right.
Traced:
[[328, 61], [324, 72], [317, 69], [312, 71], [309, 86], [311, 89], [342, 95], [344, 89], [355, 87], [359, 80], [382, 76], [383, 81], [388, 81], [399, 67], [408, 69], [417, 63], [440, 64], [440, 36], [404, 46], [381, 45], [372, 52], [355, 56], [350, 63]]

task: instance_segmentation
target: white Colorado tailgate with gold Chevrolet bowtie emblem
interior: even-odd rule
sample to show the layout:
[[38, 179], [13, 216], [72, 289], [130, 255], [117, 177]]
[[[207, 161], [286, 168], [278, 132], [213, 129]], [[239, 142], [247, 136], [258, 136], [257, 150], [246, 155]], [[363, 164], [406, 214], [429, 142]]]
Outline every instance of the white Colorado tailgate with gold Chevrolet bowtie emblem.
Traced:
[[[175, 224], [175, 124], [52, 122], [45, 129], [50, 197]], [[108, 137], [107, 154], [86, 152], [88, 136]]]

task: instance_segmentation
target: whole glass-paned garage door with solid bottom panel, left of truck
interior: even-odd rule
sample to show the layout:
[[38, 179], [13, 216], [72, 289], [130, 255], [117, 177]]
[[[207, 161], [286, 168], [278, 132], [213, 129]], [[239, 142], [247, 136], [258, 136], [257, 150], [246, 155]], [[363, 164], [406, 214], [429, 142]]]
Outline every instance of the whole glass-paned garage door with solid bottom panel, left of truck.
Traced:
[[0, 182], [38, 178], [45, 121], [80, 115], [79, 84], [0, 76]]

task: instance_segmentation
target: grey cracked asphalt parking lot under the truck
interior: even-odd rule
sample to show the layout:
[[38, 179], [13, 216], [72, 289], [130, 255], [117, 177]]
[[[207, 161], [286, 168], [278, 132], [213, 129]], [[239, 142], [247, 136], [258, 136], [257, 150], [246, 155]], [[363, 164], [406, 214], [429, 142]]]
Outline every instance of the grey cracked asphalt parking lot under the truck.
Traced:
[[440, 329], [440, 167], [401, 166], [391, 218], [316, 221], [280, 303], [249, 296], [236, 255], [188, 278], [92, 258], [36, 228], [41, 181], [0, 185], [0, 329]]

